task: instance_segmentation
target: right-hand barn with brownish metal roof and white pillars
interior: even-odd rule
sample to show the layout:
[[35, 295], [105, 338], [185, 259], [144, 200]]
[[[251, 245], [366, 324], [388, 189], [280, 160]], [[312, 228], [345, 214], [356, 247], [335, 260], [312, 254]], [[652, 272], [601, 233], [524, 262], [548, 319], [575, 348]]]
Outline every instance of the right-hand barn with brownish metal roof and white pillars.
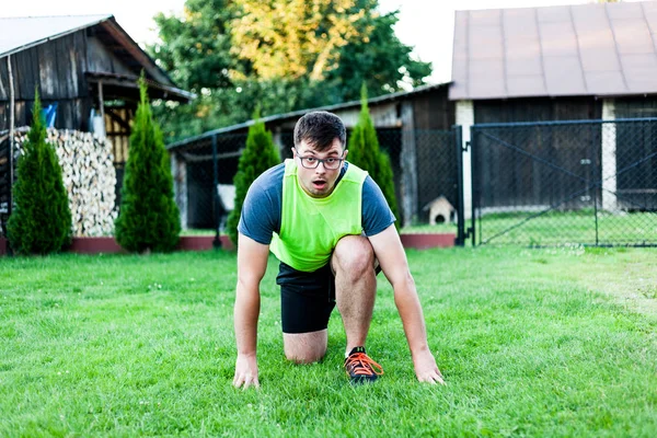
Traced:
[[657, 117], [657, 2], [458, 11], [449, 100], [481, 208], [657, 209], [655, 122], [613, 123]]

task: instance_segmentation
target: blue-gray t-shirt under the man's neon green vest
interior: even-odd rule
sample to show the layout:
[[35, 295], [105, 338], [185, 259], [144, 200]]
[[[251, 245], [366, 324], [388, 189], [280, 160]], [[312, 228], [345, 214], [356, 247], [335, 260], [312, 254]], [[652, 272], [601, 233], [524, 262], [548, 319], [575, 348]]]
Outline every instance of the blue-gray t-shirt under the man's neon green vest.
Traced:
[[[348, 163], [342, 169], [336, 185], [339, 184]], [[268, 245], [272, 233], [280, 231], [283, 212], [283, 176], [285, 163], [280, 163], [260, 175], [249, 187], [238, 231], [254, 241]], [[376, 235], [394, 223], [381, 188], [369, 175], [362, 184], [362, 230], [365, 235]]]

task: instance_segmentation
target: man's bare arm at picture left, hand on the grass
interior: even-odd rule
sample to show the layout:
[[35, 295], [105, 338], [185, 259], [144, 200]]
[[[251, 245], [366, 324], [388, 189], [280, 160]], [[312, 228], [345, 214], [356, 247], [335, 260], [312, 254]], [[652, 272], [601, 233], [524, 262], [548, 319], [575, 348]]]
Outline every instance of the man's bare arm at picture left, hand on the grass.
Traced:
[[238, 287], [234, 308], [238, 360], [233, 385], [260, 388], [257, 380], [257, 316], [260, 284], [267, 269], [269, 246], [242, 233], [238, 241]]

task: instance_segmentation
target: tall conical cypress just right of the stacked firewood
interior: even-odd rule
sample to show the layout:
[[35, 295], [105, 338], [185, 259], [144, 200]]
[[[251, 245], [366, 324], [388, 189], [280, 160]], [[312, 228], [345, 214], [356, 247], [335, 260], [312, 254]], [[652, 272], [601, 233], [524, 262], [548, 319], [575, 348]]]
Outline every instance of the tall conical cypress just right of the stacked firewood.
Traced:
[[172, 251], [181, 232], [173, 177], [162, 132], [153, 120], [143, 76], [123, 181], [115, 237], [129, 252]]

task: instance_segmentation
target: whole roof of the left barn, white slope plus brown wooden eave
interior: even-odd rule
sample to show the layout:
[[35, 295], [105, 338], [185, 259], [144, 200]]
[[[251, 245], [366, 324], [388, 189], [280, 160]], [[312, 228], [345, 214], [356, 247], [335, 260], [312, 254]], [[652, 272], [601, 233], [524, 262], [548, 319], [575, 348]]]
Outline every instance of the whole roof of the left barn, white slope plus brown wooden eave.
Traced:
[[[62, 15], [0, 18], [0, 58], [72, 34], [87, 27], [97, 26], [97, 36], [116, 56], [135, 71], [134, 77], [125, 77], [125, 84], [137, 87], [139, 72], [143, 69], [152, 84], [158, 84], [157, 96], [188, 101], [194, 94], [176, 88], [169, 74], [143, 51], [139, 45], [116, 22], [114, 15]], [[94, 72], [94, 79], [102, 76]]]

